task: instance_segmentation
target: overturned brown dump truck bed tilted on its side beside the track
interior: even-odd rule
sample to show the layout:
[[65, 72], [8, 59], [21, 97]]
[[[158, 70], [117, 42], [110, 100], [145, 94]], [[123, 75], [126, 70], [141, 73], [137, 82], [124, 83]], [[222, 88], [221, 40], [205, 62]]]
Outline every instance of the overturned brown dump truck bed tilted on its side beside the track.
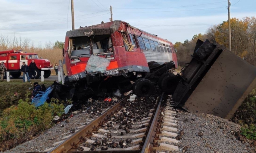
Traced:
[[256, 86], [256, 67], [226, 47], [198, 40], [173, 94], [176, 105], [191, 113], [230, 119]]

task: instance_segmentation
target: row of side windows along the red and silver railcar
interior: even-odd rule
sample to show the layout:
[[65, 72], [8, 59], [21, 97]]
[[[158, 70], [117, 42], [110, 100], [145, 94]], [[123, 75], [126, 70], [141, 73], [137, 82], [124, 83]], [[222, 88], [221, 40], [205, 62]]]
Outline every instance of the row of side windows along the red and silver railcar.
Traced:
[[140, 49], [152, 50], [155, 52], [168, 52], [168, 53], [174, 52], [172, 46], [170, 46], [170, 45], [163, 44], [158, 41], [153, 41], [153, 40], [145, 38], [145, 37], [137, 36], [137, 38], [139, 41]]

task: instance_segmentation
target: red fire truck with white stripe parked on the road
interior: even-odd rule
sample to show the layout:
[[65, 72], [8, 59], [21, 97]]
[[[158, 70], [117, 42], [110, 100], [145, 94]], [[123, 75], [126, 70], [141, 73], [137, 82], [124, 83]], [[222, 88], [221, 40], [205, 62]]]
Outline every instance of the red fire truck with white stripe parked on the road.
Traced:
[[[6, 50], [0, 51], [0, 62], [4, 62], [7, 67], [7, 71], [14, 78], [18, 78], [21, 75], [20, 68], [23, 62], [29, 65], [32, 60], [36, 63], [36, 79], [41, 76], [41, 70], [44, 71], [44, 77], [48, 78], [51, 75], [51, 69], [53, 69], [52, 64], [48, 59], [38, 58], [35, 53], [24, 53], [21, 50]], [[30, 74], [31, 77], [31, 74]], [[6, 72], [5, 72], [6, 78]]]

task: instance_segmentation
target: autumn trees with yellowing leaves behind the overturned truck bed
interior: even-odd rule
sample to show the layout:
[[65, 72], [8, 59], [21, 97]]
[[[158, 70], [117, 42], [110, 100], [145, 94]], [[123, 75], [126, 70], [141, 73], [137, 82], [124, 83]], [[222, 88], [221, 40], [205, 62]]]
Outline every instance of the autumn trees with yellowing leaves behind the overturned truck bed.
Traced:
[[[256, 18], [244, 17], [243, 19], [232, 18], [231, 22], [231, 44], [232, 52], [249, 63], [256, 66]], [[197, 34], [192, 39], [176, 42], [174, 47], [177, 49], [177, 58], [180, 66], [191, 60], [195, 44], [200, 39], [208, 39], [213, 43], [218, 43], [229, 48], [229, 25], [228, 21], [211, 26], [205, 34]]]

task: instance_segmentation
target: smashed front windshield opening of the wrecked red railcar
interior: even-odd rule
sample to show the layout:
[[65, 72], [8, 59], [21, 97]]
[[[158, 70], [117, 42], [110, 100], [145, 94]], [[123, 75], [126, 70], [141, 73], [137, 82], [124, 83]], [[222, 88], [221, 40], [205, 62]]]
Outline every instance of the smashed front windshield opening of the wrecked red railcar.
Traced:
[[90, 57], [91, 54], [113, 52], [110, 35], [73, 37], [69, 41], [70, 57]]

